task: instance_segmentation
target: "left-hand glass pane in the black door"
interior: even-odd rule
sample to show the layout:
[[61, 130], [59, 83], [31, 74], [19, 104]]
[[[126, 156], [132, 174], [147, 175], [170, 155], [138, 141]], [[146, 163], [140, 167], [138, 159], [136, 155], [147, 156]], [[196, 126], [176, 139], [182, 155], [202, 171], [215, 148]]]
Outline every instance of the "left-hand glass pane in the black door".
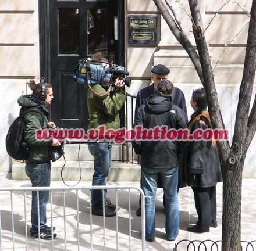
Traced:
[[59, 9], [59, 54], [79, 54], [79, 9]]

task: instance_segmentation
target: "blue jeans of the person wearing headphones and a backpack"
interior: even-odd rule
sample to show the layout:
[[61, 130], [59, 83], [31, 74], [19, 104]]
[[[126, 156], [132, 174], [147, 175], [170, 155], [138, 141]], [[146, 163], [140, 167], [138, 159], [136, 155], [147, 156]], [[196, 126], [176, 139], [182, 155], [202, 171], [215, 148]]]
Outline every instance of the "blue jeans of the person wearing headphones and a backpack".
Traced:
[[[51, 183], [51, 162], [26, 163], [26, 174], [30, 177], [32, 187], [49, 187]], [[42, 231], [46, 224], [46, 205], [49, 199], [49, 191], [39, 191], [38, 193], [40, 231]], [[31, 224], [31, 235], [38, 233], [37, 191], [32, 191]]]

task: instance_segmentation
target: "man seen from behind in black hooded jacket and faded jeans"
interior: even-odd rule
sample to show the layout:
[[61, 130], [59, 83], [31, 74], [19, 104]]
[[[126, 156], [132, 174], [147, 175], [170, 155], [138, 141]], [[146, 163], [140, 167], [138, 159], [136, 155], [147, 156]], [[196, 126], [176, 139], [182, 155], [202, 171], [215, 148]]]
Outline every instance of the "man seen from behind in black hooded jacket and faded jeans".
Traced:
[[[168, 129], [184, 129], [186, 122], [182, 109], [172, 102], [173, 84], [169, 80], [161, 81], [155, 94], [138, 109], [134, 128], [143, 129], [166, 126]], [[167, 239], [174, 241], [179, 234], [178, 205], [178, 155], [183, 151], [184, 142], [133, 141], [135, 152], [141, 156], [141, 188], [145, 196], [145, 235], [147, 241], [155, 239], [155, 195], [157, 182], [161, 184], [165, 196], [165, 231]], [[170, 161], [170, 159], [172, 161]]]

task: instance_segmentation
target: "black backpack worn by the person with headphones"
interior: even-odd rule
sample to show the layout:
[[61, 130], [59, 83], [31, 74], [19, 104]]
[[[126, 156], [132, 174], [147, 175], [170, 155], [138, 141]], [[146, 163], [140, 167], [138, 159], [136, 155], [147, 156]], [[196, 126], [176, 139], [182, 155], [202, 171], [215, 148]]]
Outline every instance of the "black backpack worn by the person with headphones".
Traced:
[[25, 141], [25, 123], [23, 120], [24, 116], [29, 112], [42, 114], [41, 110], [37, 107], [31, 107], [26, 110], [21, 108], [19, 117], [10, 125], [5, 138], [8, 155], [15, 160], [26, 160], [29, 157], [29, 149]]

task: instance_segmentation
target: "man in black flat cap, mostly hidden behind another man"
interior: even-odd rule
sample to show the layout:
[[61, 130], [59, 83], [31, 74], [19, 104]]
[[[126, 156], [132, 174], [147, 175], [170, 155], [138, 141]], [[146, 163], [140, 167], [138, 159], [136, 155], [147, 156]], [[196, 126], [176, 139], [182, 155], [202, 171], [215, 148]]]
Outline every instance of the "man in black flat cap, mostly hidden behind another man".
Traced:
[[[151, 85], [149, 85], [148, 87], [145, 87], [143, 89], [141, 89], [138, 94], [137, 94], [137, 98], [136, 98], [136, 105], [135, 105], [135, 118], [136, 118], [136, 113], [138, 111], [138, 108], [143, 105], [145, 102], [148, 101], [148, 99], [150, 99], [150, 96], [154, 94], [154, 90], [157, 88], [158, 84], [162, 81], [162, 80], [167, 80], [168, 79], [168, 75], [170, 73], [170, 70], [164, 66], [163, 64], [157, 64], [156, 66], [154, 66], [151, 70], [152, 72], [152, 81], [153, 83]], [[182, 110], [183, 110], [183, 116], [184, 116], [184, 120], [188, 121], [187, 119], [187, 105], [186, 105], [186, 100], [183, 94], [183, 91], [177, 87], [173, 88], [173, 94], [172, 94], [172, 102], [179, 106]], [[180, 159], [182, 160], [182, 157], [180, 157]], [[183, 177], [183, 173], [182, 169], [179, 169], [179, 176]], [[182, 178], [179, 179], [179, 188], [182, 187], [186, 187], [186, 183], [181, 182], [181, 180], [183, 180]], [[161, 188], [161, 182], [158, 181], [158, 187]], [[164, 198], [164, 197], [163, 197]], [[141, 199], [141, 197], [140, 197]], [[140, 199], [139, 199], [139, 205], [140, 205]], [[163, 204], [165, 204], [164, 199], [163, 199]], [[139, 207], [136, 211], [136, 215], [137, 216], [141, 216], [141, 207]]]

